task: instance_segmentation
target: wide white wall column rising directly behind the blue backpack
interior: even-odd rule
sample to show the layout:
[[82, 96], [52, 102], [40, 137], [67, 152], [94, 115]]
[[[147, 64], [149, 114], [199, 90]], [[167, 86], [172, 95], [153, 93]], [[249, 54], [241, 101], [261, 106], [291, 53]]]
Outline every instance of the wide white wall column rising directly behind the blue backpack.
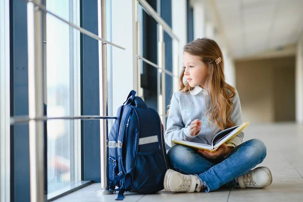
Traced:
[[[113, 113], [131, 90], [138, 93], [136, 16], [134, 0], [112, 1], [112, 39], [126, 50], [113, 48]], [[119, 14], [119, 15], [118, 15]]]

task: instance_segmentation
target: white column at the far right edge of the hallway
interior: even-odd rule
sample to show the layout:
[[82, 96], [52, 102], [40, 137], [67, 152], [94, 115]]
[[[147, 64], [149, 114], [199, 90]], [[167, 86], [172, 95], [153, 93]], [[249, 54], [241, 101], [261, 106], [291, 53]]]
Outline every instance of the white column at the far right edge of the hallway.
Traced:
[[297, 46], [295, 67], [295, 120], [303, 123], [303, 35]]

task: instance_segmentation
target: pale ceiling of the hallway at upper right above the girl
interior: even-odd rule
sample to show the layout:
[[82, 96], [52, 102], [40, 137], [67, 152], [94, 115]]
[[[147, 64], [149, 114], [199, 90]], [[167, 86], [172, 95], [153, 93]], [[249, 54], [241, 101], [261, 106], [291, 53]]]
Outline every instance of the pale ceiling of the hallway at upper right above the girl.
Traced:
[[295, 44], [303, 34], [303, 0], [215, 2], [234, 58]]

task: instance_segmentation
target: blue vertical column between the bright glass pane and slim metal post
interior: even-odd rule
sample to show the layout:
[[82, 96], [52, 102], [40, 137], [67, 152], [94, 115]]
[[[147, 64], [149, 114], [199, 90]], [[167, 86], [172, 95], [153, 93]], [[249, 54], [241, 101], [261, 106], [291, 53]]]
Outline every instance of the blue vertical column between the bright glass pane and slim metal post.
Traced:
[[[97, 0], [80, 0], [80, 26], [98, 35]], [[99, 52], [98, 41], [80, 34], [81, 115], [98, 114]], [[93, 106], [93, 107], [91, 107]], [[81, 120], [81, 179], [100, 182], [100, 122]]]

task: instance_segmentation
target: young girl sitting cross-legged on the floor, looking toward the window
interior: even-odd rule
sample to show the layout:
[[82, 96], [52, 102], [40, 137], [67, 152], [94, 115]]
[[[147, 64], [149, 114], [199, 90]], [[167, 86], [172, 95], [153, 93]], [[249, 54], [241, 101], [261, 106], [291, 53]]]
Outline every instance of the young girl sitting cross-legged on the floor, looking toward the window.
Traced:
[[222, 51], [212, 39], [198, 38], [184, 47], [180, 90], [172, 96], [165, 133], [172, 146], [168, 158], [173, 169], [165, 174], [166, 191], [263, 188], [272, 183], [268, 168], [251, 170], [266, 156], [264, 143], [258, 139], [242, 143], [242, 132], [214, 153], [173, 146], [172, 140], [211, 144], [219, 131], [242, 124], [239, 96], [225, 82], [223, 67]]

